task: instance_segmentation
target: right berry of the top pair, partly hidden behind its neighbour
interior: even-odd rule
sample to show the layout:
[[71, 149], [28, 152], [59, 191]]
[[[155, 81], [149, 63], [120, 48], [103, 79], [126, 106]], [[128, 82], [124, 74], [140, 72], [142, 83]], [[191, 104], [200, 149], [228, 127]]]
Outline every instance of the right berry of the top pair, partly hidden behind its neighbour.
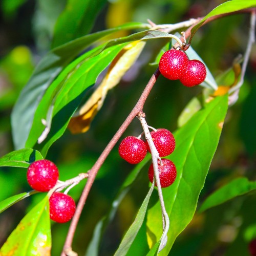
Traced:
[[202, 83], [206, 77], [206, 68], [200, 60], [192, 59], [188, 61], [185, 74], [180, 78], [180, 81], [186, 87], [197, 86]]

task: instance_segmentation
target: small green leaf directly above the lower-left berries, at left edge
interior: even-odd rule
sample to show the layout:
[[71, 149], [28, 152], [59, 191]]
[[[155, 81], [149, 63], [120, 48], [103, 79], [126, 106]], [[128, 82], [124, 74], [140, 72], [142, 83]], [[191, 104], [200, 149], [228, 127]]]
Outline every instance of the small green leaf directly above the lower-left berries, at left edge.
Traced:
[[37, 160], [44, 159], [40, 152], [33, 150], [33, 148], [23, 148], [10, 152], [9, 154], [0, 158], [0, 166], [13, 166], [28, 168], [29, 165]]

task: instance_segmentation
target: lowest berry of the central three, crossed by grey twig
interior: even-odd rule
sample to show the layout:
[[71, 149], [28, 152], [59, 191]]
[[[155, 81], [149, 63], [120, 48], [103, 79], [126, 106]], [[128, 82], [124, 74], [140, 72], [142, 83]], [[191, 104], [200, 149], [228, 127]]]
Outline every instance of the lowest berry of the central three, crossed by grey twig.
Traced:
[[[175, 164], [172, 161], [163, 158], [162, 165], [160, 165], [160, 161], [158, 160], [158, 170], [161, 187], [168, 187], [174, 183], [177, 171]], [[148, 169], [148, 178], [152, 183], [154, 178], [153, 164], [151, 164], [150, 168]], [[157, 186], [157, 184], [155, 184], [155, 186]]]

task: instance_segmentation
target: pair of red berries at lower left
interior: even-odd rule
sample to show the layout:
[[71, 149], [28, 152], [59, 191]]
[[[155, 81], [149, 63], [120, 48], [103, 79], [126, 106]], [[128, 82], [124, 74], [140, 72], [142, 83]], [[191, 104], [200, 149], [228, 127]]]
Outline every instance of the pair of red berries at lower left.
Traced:
[[[40, 192], [47, 192], [53, 188], [59, 178], [57, 166], [49, 160], [38, 160], [30, 164], [27, 172], [29, 185]], [[72, 197], [54, 192], [49, 199], [50, 218], [59, 223], [70, 221], [76, 209]]]

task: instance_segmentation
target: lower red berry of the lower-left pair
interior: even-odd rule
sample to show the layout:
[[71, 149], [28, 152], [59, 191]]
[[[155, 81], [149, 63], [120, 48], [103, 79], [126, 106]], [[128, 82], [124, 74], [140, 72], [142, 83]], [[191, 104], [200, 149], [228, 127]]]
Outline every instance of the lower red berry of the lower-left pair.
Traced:
[[65, 223], [72, 219], [76, 204], [69, 195], [55, 192], [49, 199], [50, 218], [58, 223]]

